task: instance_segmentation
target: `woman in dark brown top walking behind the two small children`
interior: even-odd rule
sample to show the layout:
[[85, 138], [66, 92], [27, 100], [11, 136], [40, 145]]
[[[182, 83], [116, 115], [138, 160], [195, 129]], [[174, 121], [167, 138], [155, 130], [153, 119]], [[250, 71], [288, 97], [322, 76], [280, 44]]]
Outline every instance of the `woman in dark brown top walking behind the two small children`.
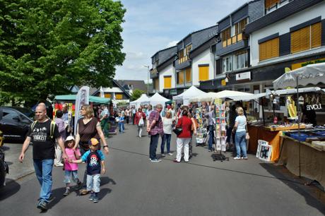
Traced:
[[[96, 138], [98, 140], [102, 140], [102, 143], [104, 144], [104, 151], [108, 155], [108, 145], [105, 140], [104, 133], [102, 133], [100, 123], [96, 118], [93, 117], [93, 109], [90, 107], [90, 105], [83, 105], [83, 107], [81, 107], [80, 113], [83, 118], [78, 120], [76, 145], [74, 148], [76, 149], [76, 147], [79, 145], [81, 155], [83, 155], [89, 150], [89, 140], [91, 138]], [[100, 149], [100, 144], [98, 148]], [[85, 171], [85, 174], [83, 175], [83, 188], [80, 191], [81, 195], [88, 193], [86, 190], [86, 180], [87, 172]]]

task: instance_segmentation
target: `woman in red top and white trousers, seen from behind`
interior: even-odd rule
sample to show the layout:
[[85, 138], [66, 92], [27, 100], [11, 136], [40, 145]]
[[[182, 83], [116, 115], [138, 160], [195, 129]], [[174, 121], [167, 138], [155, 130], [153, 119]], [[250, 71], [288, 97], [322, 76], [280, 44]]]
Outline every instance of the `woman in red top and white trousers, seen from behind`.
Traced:
[[[193, 121], [187, 116], [188, 111], [184, 109], [182, 112], [182, 117], [178, 119], [177, 128], [182, 128], [182, 133], [177, 136], [177, 156], [174, 162], [181, 162], [182, 149], [184, 148], [184, 162], [189, 162], [189, 142], [191, 141], [191, 126]], [[196, 134], [196, 128], [194, 130]]]

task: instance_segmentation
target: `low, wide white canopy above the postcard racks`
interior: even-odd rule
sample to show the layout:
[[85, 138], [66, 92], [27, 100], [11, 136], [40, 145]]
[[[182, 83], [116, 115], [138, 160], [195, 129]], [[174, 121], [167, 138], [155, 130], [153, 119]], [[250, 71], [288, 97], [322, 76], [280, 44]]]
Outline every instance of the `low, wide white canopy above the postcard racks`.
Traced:
[[231, 91], [231, 90], [223, 90], [221, 92], [208, 92], [204, 95], [199, 95], [197, 97], [191, 98], [189, 101], [190, 102], [202, 102], [202, 101], [213, 101], [215, 99], [221, 98], [230, 98], [232, 99], [233, 97], [252, 97], [253, 94], [247, 93], [247, 92], [237, 92], [237, 91]]

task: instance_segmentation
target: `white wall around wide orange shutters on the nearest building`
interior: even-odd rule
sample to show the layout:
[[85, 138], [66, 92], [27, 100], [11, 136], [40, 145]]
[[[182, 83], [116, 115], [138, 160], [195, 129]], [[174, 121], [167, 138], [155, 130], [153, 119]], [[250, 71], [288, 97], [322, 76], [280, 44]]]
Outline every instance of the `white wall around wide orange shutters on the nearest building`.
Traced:
[[279, 33], [279, 35], [283, 35], [285, 33], [290, 32], [290, 28], [292, 28], [295, 25], [299, 25], [301, 23], [305, 23], [308, 20], [312, 20], [313, 18], [317, 18], [321, 16], [322, 19], [325, 18], [325, 2], [321, 4], [317, 4], [316, 6], [312, 6], [310, 8], [305, 9], [304, 11], [301, 11], [300, 13], [296, 13], [292, 16], [289, 16], [288, 18], [285, 18], [284, 20], [280, 20], [277, 23], [273, 23], [272, 25], [268, 25], [265, 28], [261, 28], [260, 30], [256, 32], [252, 32], [252, 34], [249, 36], [249, 44], [251, 47], [251, 64], [252, 66], [258, 66], [263, 64], [270, 64], [277, 61], [283, 61], [288, 59], [293, 59], [300, 56], [305, 56], [307, 54], [314, 54], [317, 52], [323, 52], [325, 51], [325, 47], [318, 47], [315, 49], [311, 49], [305, 52], [300, 52], [296, 54], [289, 54], [287, 56], [279, 56], [273, 59], [268, 59], [265, 61], [259, 62], [259, 43], [258, 40], [261, 38], [267, 37], [268, 35], [273, 35], [276, 33]]

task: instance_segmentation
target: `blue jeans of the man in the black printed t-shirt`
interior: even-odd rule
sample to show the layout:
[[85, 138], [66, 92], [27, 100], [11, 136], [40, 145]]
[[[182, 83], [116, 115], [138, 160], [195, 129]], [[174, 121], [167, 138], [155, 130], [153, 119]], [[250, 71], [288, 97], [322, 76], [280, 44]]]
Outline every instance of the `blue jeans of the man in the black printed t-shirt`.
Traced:
[[34, 168], [37, 180], [40, 182], [40, 201], [49, 202], [49, 196], [51, 196], [52, 190], [52, 169], [54, 160], [40, 160], [34, 159]]

